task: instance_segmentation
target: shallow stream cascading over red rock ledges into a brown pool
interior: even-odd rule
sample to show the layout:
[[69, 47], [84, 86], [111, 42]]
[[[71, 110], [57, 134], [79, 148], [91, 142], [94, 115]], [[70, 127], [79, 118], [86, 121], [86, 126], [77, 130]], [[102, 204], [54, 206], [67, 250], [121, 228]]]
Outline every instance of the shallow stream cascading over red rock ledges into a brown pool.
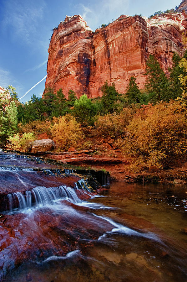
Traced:
[[0, 281], [187, 281], [187, 186], [80, 172], [0, 152]]

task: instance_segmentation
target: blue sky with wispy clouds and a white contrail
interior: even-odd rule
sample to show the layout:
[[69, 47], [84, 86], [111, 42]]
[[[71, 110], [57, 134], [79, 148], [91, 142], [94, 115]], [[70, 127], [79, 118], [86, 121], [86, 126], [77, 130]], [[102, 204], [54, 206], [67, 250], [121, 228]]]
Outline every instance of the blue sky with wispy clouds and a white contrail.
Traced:
[[[21, 98], [47, 75], [48, 47], [52, 29], [66, 17], [80, 14], [94, 31], [121, 14], [149, 16], [179, 6], [174, 0], [0, 0], [0, 86], [16, 87]], [[45, 79], [33, 94], [42, 95]]]

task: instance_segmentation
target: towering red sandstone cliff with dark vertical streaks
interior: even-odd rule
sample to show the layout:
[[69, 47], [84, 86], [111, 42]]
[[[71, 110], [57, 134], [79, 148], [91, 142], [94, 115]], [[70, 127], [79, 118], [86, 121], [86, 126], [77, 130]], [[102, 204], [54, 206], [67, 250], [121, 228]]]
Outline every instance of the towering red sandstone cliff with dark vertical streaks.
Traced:
[[172, 65], [172, 56], [184, 53], [182, 34], [186, 32], [184, 13], [140, 16], [120, 16], [105, 28], [93, 32], [80, 16], [65, 18], [54, 29], [49, 44], [45, 86], [59, 88], [68, 97], [74, 90], [77, 97], [102, 96], [106, 80], [114, 82], [124, 93], [131, 76], [140, 88], [145, 83], [146, 60], [154, 54], [165, 73]]

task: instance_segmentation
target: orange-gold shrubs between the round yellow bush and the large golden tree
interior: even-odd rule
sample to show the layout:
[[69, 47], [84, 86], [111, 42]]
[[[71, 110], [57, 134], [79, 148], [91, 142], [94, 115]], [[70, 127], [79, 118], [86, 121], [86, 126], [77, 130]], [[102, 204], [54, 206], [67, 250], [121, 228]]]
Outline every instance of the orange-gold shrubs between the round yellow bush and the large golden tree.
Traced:
[[125, 127], [131, 120], [134, 111], [129, 108], [124, 108], [120, 114], [112, 113], [105, 116], [98, 116], [94, 123], [96, 135], [102, 137], [117, 137], [124, 133]]

